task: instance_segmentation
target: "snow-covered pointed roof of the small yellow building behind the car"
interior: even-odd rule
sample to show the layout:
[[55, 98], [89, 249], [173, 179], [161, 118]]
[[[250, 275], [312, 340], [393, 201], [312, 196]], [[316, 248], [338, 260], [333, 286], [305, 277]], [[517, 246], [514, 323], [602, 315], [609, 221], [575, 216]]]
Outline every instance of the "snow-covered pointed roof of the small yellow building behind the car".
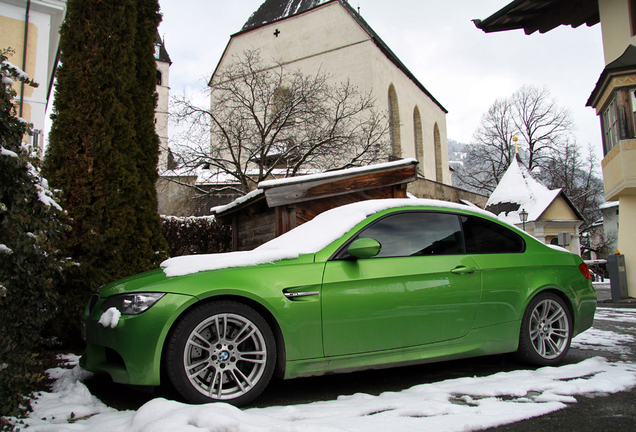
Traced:
[[583, 216], [561, 189], [550, 190], [536, 180], [528, 168], [515, 158], [493, 191], [486, 210], [511, 224], [518, 224], [522, 210], [528, 212], [528, 222], [541, 218], [557, 197], [562, 196], [578, 218]]

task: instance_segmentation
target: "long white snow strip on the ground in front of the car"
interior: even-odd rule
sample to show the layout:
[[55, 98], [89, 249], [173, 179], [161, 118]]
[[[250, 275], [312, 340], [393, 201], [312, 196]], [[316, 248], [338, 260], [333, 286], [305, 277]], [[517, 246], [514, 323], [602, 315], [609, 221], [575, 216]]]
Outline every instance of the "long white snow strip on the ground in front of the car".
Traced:
[[91, 432], [391, 432], [471, 431], [547, 414], [576, 395], [616, 393], [636, 386], [636, 364], [602, 357], [538, 370], [502, 372], [414, 386], [379, 396], [355, 394], [295, 406], [240, 410], [227, 404], [187, 405], [153, 399], [137, 411], [117, 411], [92, 396], [77, 357], [73, 369], [49, 371], [51, 393], [34, 400], [21, 420], [29, 431]]

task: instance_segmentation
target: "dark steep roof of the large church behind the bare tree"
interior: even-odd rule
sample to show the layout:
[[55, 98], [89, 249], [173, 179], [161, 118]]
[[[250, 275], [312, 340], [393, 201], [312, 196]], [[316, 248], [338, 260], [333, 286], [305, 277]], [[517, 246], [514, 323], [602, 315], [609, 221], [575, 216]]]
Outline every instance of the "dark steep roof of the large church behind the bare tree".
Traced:
[[351, 15], [351, 17], [360, 25], [360, 27], [369, 35], [375, 45], [382, 51], [382, 53], [397, 66], [413, 83], [419, 87], [442, 111], [448, 113], [446, 108], [433, 97], [431, 93], [418, 81], [413, 73], [402, 63], [397, 55], [388, 47], [386, 43], [378, 36], [378, 34], [371, 28], [369, 24], [362, 18], [362, 16], [349, 5], [346, 0], [265, 0], [265, 2], [254, 12], [247, 20], [243, 29], [232, 35], [238, 36], [240, 34], [249, 32], [258, 27], [262, 27], [267, 24], [271, 24], [276, 21], [284, 20], [292, 16], [300, 15], [308, 12], [316, 7], [328, 4], [328, 3], [340, 3], [342, 7]]

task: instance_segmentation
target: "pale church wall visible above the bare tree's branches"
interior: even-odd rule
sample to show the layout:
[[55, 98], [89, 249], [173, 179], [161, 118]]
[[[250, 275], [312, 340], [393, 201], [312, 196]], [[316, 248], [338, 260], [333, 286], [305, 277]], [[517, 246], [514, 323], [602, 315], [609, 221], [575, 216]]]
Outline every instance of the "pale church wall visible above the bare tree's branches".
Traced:
[[[276, 36], [274, 33], [280, 33]], [[389, 86], [397, 93], [400, 113], [402, 157], [417, 158], [413, 112], [421, 118], [424, 160], [420, 170], [427, 179], [436, 180], [434, 128], [437, 124], [441, 143], [442, 178], [451, 184], [448, 168], [446, 117], [442, 109], [391, 62], [353, 17], [338, 3], [330, 3], [311, 12], [232, 37], [219, 64], [231, 62], [233, 55], [259, 49], [262, 60], [282, 61], [291, 70], [306, 74], [322, 70], [335, 83], [349, 78], [362, 92], [373, 90], [377, 107], [388, 114]]]

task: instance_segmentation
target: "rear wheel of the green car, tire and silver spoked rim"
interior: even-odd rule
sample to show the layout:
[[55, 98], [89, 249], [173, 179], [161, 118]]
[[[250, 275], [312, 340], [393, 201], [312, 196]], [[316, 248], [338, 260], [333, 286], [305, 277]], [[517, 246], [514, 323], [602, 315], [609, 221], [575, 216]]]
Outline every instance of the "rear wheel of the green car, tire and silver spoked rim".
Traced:
[[517, 357], [527, 363], [553, 366], [563, 361], [572, 340], [572, 317], [556, 294], [532, 299], [521, 321]]

